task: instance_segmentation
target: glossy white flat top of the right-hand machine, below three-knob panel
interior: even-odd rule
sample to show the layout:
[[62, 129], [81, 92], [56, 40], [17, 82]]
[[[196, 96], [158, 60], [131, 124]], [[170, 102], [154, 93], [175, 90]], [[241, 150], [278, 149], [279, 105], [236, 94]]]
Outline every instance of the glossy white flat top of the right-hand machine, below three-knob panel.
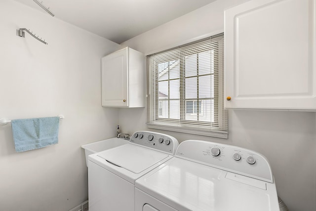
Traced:
[[[243, 181], [237, 181], [226, 178], [227, 173], [225, 170], [173, 157], [137, 179], [135, 185], [176, 210], [278, 210], [274, 183], [242, 175], [237, 175], [237, 180]], [[253, 183], [253, 180], [260, 185]]]

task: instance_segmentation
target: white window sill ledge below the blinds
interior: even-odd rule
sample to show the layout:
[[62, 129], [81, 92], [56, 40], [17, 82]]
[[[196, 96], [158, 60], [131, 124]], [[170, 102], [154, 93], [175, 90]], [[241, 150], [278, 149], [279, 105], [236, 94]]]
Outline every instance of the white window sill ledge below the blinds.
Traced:
[[174, 132], [183, 132], [183, 133], [189, 133], [189, 134], [195, 134], [195, 135], [204, 135], [204, 136], [228, 139], [228, 133], [226, 132], [210, 132], [210, 131], [202, 131], [202, 130], [195, 130], [195, 129], [188, 129], [188, 128], [159, 126], [159, 125], [150, 125], [150, 124], [147, 124], [147, 127], [153, 128], [153, 129], [161, 129], [161, 130], [168, 130], [168, 131], [174, 131]]

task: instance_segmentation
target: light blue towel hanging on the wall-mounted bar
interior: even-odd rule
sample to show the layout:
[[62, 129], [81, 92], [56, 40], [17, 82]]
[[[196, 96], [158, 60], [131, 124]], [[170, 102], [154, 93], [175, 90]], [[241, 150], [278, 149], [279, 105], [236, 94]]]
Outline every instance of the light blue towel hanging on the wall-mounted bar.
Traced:
[[12, 120], [15, 152], [58, 143], [59, 117]]

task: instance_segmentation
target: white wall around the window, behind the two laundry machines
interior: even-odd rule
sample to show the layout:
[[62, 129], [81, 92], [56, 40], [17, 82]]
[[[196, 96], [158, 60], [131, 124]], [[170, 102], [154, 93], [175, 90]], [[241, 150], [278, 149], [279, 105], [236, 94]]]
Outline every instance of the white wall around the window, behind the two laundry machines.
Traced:
[[[145, 54], [224, 31], [224, 10], [247, 0], [217, 0], [196, 11], [121, 43]], [[126, 132], [146, 130], [146, 109], [120, 109]], [[158, 130], [157, 130], [158, 131]], [[315, 112], [229, 111], [229, 139], [170, 131], [179, 141], [217, 141], [255, 150], [271, 163], [278, 195], [290, 211], [316, 209]]]

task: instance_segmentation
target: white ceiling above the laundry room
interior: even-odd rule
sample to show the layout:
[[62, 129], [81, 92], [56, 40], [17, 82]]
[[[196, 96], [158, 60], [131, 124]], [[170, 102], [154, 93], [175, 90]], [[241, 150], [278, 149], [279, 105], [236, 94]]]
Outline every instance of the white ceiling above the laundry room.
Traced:
[[[46, 13], [34, 0], [16, 1]], [[215, 0], [40, 1], [55, 18], [121, 43]]]

